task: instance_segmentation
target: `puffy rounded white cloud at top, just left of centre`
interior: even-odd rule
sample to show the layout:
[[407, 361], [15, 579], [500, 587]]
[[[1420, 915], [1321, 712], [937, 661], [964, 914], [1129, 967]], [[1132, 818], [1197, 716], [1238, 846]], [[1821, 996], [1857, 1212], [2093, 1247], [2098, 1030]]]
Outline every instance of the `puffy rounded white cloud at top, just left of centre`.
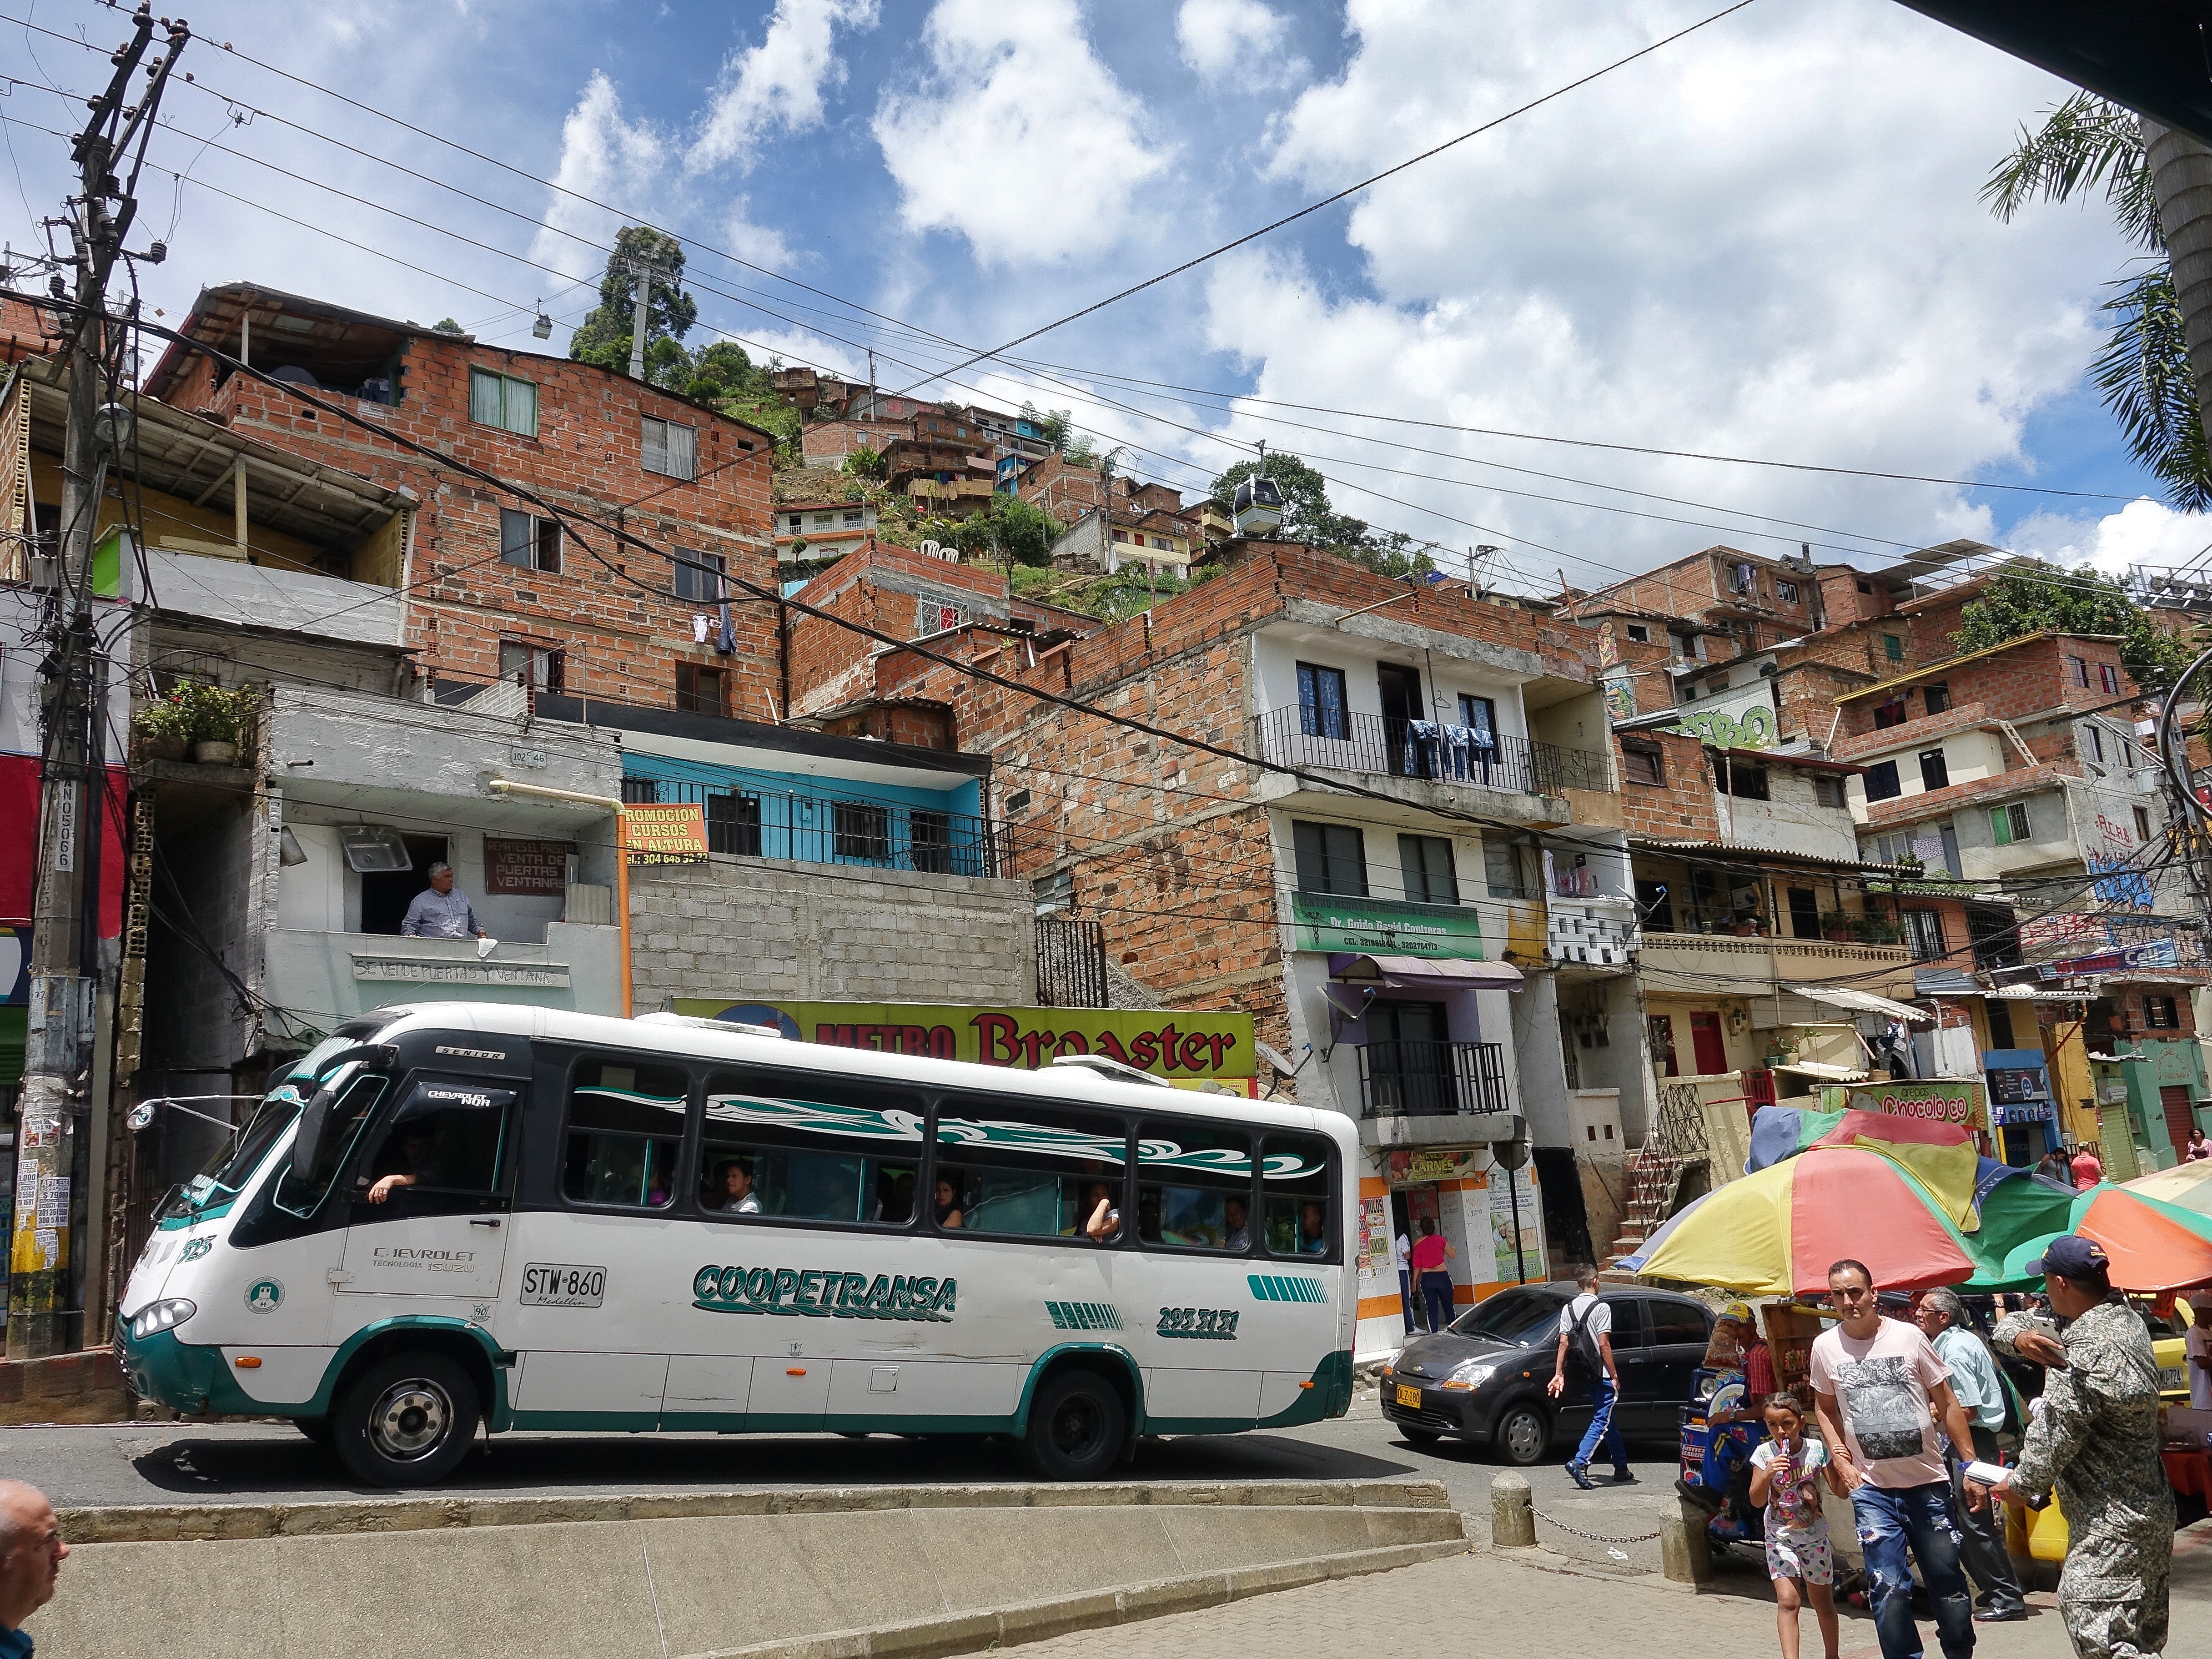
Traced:
[[1073, 0], [938, 0], [922, 49], [920, 84], [876, 106], [907, 228], [967, 237], [984, 265], [1075, 259], [1141, 228], [1139, 190], [1170, 153]]

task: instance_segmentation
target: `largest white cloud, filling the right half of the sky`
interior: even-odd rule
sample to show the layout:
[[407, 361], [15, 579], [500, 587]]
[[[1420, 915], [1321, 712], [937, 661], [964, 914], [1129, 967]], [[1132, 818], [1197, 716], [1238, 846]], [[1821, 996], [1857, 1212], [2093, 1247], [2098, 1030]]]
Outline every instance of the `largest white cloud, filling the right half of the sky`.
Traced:
[[[1564, 29], [1542, 0], [1352, 0], [1356, 49], [1281, 117], [1272, 173], [1301, 195], [1343, 188], [1694, 15], [1613, 0]], [[2059, 91], [1887, 0], [1741, 13], [1356, 199], [1336, 226], [1365, 281], [1281, 243], [1214, 265], [1208, 343], [1256, 369], [1259, 396], [1336, 409], [1951, 478], [2017, 465], [2024, 418], [2079, 383], [2097, 285], [2124, 257], [2097, 212], [2000, 226], [1978, 201], [2013, 126]], [[1334, 257], [1329, 221], [1310, 223], [1303, 246]], [[1719, 540], [1878, 560], [1995, 531], [1922, 484], [1250, 405], [1230, 427], [1420, 473], [1316, 460], [1345, 480], [1345, 511], [1447, 546], [1517, 538], [1513, 557], [1553, 586], [1562, 562], [1595, 584]]]

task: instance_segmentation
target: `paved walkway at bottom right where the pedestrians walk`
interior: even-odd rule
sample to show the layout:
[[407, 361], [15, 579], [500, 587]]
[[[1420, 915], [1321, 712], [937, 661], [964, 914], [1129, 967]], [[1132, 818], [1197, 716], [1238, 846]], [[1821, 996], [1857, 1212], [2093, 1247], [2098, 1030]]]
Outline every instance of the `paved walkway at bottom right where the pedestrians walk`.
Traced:
[[[2174, 1540], [2172, 1639], [2166, 1659], [2212, 1659], [2212, 1522]], [[1756, 1568], [1728, 1566], [1690, 1593], [1650, 1577], [1610, 1577], [1582, 1564], [1478, 1551], [1444, 1562], [1279, 1590], [1250, 1601], [1146, 1624], [1084, 1630], [1022, 1648], [1035, 1659], [1210, 1659], [1212, 1655], [1593, 1652], [1632, 1659], [1776, 1659], [1774, 1599]], [[1975, 1626], [1978, 1659], [2073, 1659], [2055, 1597], [2033, 1595], [2024, 1624]], [[1803, 1621], [1803, 1652], [1820, 1655], [1820, 1626]], [[1929, 1659], [1936, 1628], [1922, 1619]], [[1843, 1659], [1878, 1659], [1874, 1621], [1843, 1615]]]

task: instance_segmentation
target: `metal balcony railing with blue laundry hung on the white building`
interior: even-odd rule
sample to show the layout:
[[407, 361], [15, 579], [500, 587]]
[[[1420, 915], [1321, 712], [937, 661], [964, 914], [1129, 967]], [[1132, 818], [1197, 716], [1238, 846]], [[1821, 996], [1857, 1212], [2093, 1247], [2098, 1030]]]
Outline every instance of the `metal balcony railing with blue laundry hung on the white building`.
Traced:
[[1345, 714], [1329, 708], [1276, 708], [1254, 721], [1261, 754], [1276, 765], [1380, 772], [1394, 779], [1473, 783], [1484, 790], [1557, 794], [1610, 790], [1606, 757], [1473, 726]]

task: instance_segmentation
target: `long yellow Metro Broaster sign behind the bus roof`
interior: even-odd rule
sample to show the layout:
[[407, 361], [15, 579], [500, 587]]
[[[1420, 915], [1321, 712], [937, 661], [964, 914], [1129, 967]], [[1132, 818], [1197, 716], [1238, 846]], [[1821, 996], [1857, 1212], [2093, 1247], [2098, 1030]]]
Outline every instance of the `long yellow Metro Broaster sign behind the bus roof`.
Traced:
[[1177, 1009], [1006, 1009], [929, 1002], [741, 1002], [677, 998], [699, 1020], [776, 1026], [799, 1042], [887, 1055], [971, 1060], [1037, 1071], [1060, 1055], [1104, 1055], [1170, 1082], [1221, 1082], [1250, 1093], [1259, 1062], [1250, 1013]]

